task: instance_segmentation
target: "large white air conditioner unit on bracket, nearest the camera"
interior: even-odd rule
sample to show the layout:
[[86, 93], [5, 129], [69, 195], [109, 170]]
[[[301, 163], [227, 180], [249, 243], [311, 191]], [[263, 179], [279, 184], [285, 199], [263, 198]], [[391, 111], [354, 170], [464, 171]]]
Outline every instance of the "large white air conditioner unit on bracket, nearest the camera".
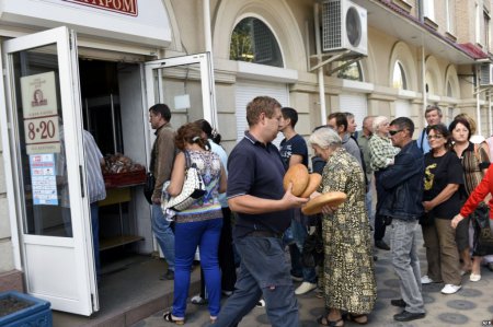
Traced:
[[368, 55], [368, 26], [366, 9], [348, 0], [323, 0], [322, 51], [348, 49], [353, 54]]

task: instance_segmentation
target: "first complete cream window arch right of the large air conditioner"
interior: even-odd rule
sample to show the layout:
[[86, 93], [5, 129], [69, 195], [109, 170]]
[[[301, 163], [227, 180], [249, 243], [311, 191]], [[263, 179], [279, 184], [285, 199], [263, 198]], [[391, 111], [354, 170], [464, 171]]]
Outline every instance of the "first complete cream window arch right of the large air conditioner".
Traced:
[[389, 86], [392, 87], [393, 84], [393, 70], [395, 62], [400, 62], [405, 80], [406, 80], [406, 90], [417, 91], [417, 68], [414, 61], [414, 58], [411, 54], [411, 49], [403, 42], [397, 42], [392, 50], [390, 51], [390, 60], [389, 60], [389, 78], [388, 83]]

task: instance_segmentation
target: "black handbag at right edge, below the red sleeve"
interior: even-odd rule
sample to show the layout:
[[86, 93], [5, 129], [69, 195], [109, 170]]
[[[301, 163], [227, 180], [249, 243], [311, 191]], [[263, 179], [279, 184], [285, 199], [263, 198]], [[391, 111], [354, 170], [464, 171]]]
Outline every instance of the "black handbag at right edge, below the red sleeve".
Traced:
[[469, 218], [474, 229], [472, 254], [481, 257], [493, 255], [493, 231], [490, 227], [490, 207], [481, 202]]

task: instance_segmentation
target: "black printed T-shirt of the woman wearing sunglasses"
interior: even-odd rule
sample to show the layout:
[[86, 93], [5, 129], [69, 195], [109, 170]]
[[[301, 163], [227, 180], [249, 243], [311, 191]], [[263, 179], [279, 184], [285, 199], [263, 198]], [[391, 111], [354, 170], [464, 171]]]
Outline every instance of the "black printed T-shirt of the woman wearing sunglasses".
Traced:
[[[431, 201], [449, 184], [463, 184], [462, 165], [457, 155], [447, 151], [442, 156], [425, 154], [425, 176], [423, 200]], [[462, 205], [460, 191], [457, 190], [448, 200], [433, 209], [436, 218], [451, 220], [460, 211]]]

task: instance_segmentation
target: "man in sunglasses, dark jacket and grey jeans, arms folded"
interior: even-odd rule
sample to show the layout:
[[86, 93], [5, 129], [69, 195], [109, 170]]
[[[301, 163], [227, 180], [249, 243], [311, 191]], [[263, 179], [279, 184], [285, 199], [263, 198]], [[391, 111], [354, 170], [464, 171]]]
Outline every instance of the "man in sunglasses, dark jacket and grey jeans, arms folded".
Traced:
[[390, 221], [392, 265], [399, 276], [402, 299], [390, 303], [403, 311], [393, 316], [398, 322], [421, 319], [425, 316], [421, 293], [421, 269], [416, 243], [419, 218], [423, 213], [424, 156], [413, 141], [414, 124], [406, 117], [390, 122], [389, 135], [394, 147], [401, 149], [393, 165], [380, 173], [381, 186], [389, 194], [380, 213]]

